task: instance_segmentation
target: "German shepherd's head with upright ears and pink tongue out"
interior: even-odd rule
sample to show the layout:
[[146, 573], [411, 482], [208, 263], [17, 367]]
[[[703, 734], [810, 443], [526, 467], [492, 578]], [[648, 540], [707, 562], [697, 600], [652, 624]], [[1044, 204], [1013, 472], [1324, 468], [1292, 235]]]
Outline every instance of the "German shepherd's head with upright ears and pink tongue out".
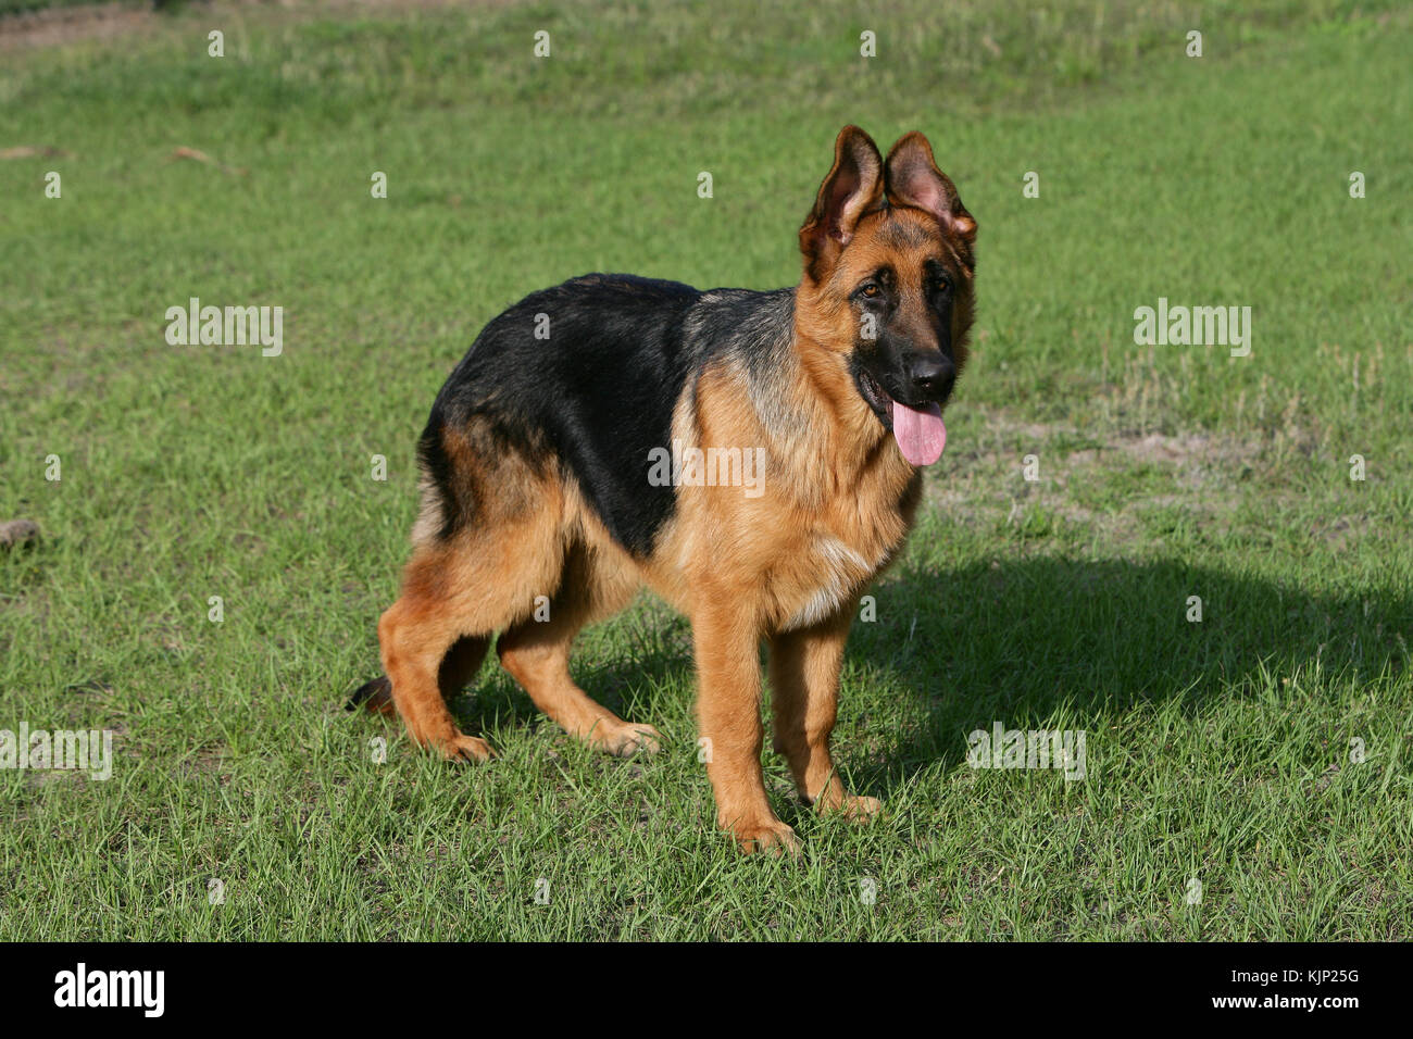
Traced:
[[904, 458], [928, 465], [941, 407], [966, 360], [976, 221], [920, 133], [885, 160], [856, 126], [839, 131], [800, 229], [800, 300], [814, 342], [846, 359], [855, 389]]

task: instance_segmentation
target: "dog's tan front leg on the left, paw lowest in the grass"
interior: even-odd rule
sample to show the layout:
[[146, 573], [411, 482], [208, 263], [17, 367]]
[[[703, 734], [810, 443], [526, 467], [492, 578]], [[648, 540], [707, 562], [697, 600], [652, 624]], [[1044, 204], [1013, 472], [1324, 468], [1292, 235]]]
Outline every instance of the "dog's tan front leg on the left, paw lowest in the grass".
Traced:
[[759, 628], [731, 608], [732, 597], [702, 598], [706, 604], [692, 616], [697, 717], [716, 821], [743, 851], [794, 851], [794, 830], [770, 810], [760, 770]]

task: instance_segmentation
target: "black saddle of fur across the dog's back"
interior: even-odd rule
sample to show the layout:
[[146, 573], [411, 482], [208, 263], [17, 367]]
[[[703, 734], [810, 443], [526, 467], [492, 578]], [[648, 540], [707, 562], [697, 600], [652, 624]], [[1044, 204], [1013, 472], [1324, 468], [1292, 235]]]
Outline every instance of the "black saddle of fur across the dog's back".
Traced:
[[[473, 489], [454, 481], [445, 431], [478, 430], [482, 451], [558, 458], [613, 539], [650, 556], [675, 492], [647, 482], [647, 452], [671, 444], [688, 376], [726, 352], [752, 372], [779, 372], [793, 308], [791, 288], [701, 291], [629, 274], [527, 295], [486, 325], [432, 404], [418, 459], [442, 499], [438, 536], [476, 515]], [[541, 314], [547, 339], [536, 338]]]

